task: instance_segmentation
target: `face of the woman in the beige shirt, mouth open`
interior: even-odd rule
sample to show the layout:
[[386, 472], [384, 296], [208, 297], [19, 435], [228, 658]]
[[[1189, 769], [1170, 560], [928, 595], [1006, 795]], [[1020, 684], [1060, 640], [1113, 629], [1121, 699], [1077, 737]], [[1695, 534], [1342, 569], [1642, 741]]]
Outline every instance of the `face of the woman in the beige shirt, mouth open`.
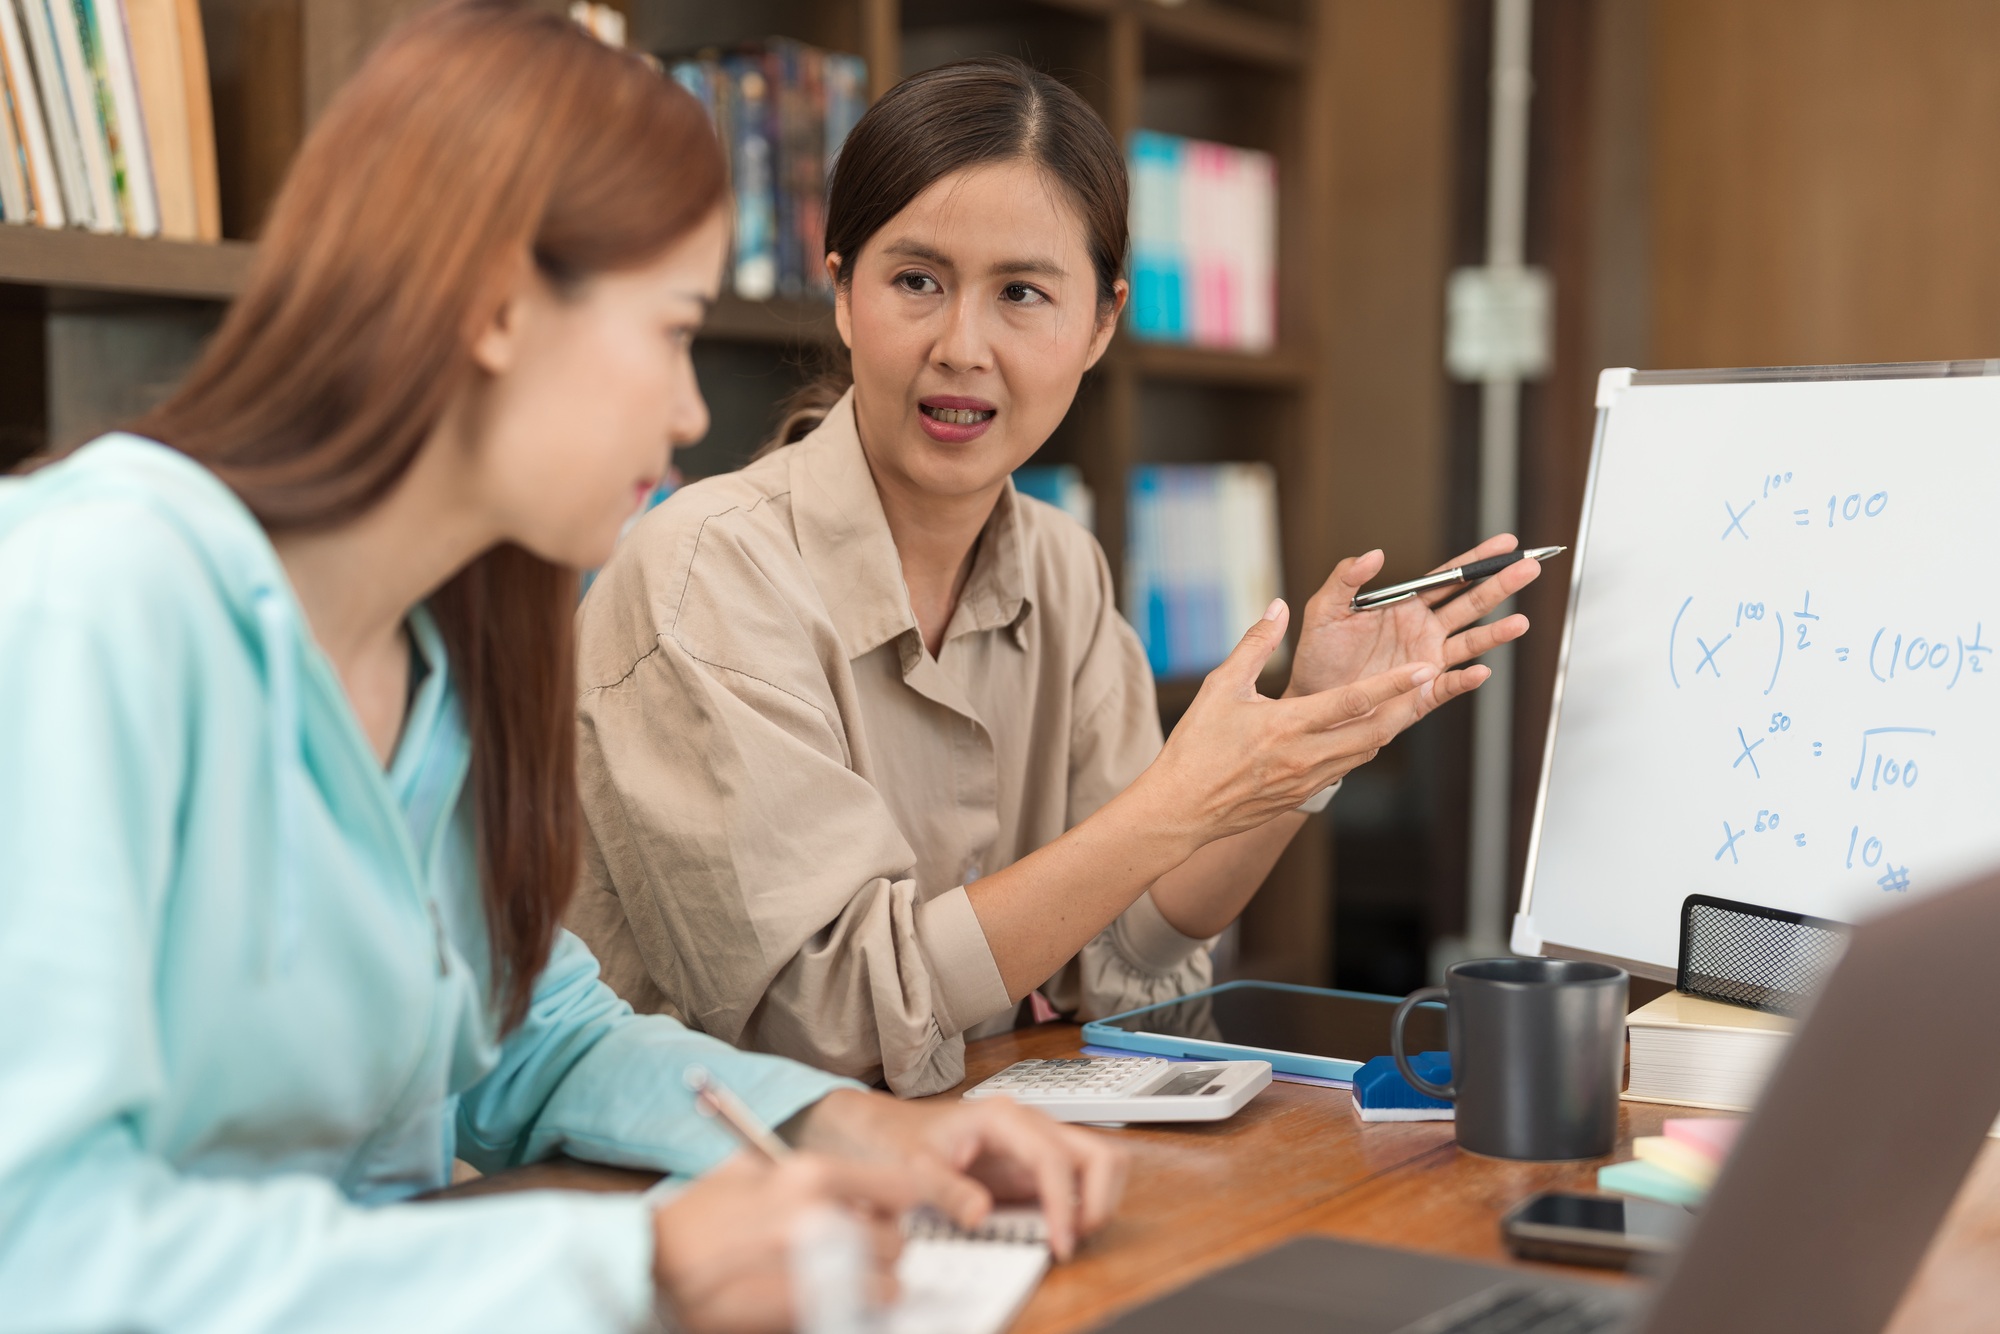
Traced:
[[844, 278], [834, 314], [868, 462], [930, 496], [988, 492], [1042, 448], [1118, 322], [1082, 218], [1026, 162], [944, 176]]

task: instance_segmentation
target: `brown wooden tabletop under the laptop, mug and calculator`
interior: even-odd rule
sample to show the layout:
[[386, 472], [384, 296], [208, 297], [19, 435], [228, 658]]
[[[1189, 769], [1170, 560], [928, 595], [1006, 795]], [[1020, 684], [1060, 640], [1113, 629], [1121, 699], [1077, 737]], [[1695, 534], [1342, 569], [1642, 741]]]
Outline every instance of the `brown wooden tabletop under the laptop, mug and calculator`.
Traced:
[[[1044, 1024], [978, 1042], [966, 1084], [1016, 1060], [1074, 1056], [1078, 1030]], [[958, 1090], [942, 1094], [954, 1098]], [[1866, 1096], [1866, 1094], [1860, 1094]], [[1464, 1154], [1450, 1122], [1362, 1124], [1348, 1094], [1272, 1084], [1214, 1126], [1120, 1130], [1132, 1184], [1116, 1222], [1050, 1272], [1012, 1334], [1072, 1334], [1294, 1236], [1524, 1266], [1500, 1244], [1498, 1220], [1536, 1190], [1594, 1190], [1604, 1162], [1630, 1158], [1634, 1136], [1658, 1134], [1676, 1108], [1626, 1102], [1618, 1150], [1592, 1162], [1502, 1162]], [[1686, 1112], [1700, 1116], [1700, 1112]], [[488, 1190], [636, 1190], [654, 1180], [590, 1164], [540, 1164], [456, 1186]], [[1602, 1270], [1564, 1268], [1568, 1276]], [[2000, 1326], [2000, 1142], [1988, 1144], [1890, 1326], [1894, 1334], [1974, 1334]]]

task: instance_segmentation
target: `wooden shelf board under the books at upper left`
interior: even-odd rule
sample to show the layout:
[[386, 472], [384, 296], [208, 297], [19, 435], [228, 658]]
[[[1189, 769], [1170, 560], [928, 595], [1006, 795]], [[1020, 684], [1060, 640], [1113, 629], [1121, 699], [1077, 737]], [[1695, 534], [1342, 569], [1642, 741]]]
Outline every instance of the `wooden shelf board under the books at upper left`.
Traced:
[[192, 244], [0, 226], [0, 282], [74, 292], [226, 302], [242, 292], [256, 246]]

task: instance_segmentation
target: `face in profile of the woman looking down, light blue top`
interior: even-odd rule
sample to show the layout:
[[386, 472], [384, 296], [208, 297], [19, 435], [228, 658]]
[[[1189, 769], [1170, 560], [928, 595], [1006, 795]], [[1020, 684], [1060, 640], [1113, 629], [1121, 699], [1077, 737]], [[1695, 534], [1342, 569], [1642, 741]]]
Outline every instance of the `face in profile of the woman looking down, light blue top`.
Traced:
[[690, 346], [716, 300], [728, 224], [710, 214], [644, 268], [558, 292], [524, 266], [474, 344], [470, 486], [504, 540], [574, 568], [604, 564], [674, 446], [708, 432]]

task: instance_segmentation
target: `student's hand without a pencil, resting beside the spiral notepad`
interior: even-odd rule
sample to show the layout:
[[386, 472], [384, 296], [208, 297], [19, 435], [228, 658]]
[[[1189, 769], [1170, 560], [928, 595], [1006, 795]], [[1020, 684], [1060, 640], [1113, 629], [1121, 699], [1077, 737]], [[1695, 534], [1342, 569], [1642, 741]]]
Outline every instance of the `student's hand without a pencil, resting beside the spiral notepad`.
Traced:
[[784, 1130], [822, 1154], [904, 1164], [924, 1204], [960, 1226], [978, 1226], [996, 1198], [1040, 1200], [1058, 1260], [1104, 1226], [1124, 1194], [1124, 1148], [1004, 1098], [898, 1102], [840, 1090]]

